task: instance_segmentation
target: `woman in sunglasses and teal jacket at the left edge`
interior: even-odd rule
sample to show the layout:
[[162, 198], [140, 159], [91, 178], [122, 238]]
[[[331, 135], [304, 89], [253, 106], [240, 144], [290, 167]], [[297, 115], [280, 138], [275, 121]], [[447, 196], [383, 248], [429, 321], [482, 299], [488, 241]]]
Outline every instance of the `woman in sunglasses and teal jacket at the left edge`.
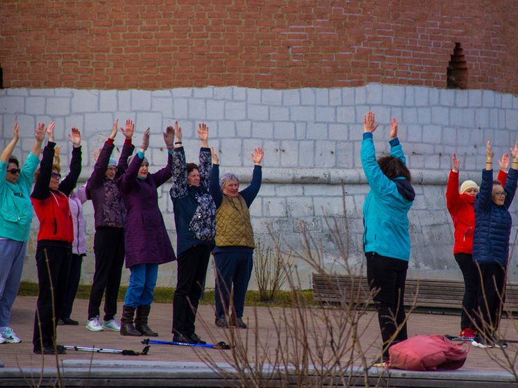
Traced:
[[27, 255], [28, 235], [33, 220], [31, 186], [34, 172], [40, 164], [37, 155], [40, 155], [45, 139], [45, 125], [37, 125], [36, 142], [23, 169], [19, 168], [18, 159], [12, 156], [19, 140], [18, 131], [17, 121], [12, 140], [0, 157], [0, 344], [17, 344], [22, 341], [9, 327], [9, 320]]

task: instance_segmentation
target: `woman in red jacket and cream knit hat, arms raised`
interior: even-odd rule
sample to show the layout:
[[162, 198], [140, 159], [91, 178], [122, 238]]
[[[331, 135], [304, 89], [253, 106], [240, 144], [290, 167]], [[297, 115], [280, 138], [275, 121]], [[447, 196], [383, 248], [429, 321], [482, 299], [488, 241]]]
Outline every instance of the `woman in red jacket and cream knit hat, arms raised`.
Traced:
[[[505, 182], [509, 168], [509, 155], [504, 153], [499, 160], [499, 180]], [[475, 228], [475, 212], [473, 206], [479, 187], [473, 180], [466, 180], [459, 187], [460, 160], [453, 153], [451, 171], [446, 188], [446, 206], [450, 212], [455, 227], [455, 246], [453, 255], [459, 264], [464, 278], [464, 298], [462, 298], [462, 312], [460, 315], [460, 337], [474, 338], [476, 335], [474, 310], [476, 310], [478, 289], [481, 281], [478, 277], [478, 268], [473, 262], [473, 231]]]

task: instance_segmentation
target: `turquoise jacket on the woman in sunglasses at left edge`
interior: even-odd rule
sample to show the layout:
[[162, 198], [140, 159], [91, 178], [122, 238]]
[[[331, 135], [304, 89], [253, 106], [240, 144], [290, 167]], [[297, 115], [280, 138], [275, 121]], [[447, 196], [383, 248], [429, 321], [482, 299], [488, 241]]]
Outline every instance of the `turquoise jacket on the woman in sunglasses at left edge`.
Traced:
[[31, 187], [39, 164], [40, 159], [32, 152], [29, 153], [24, 168], [13, 185], [6, 180], [8, 163], [0, 160], [0, 237], [19, 242], [28, 240], [33, 220]]

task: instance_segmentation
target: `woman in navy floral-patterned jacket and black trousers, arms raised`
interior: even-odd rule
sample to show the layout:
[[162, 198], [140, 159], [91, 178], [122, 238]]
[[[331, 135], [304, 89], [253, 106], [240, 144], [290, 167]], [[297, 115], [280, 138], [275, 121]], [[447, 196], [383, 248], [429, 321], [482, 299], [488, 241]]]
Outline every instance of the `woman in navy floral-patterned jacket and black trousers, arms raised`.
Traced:
[[196, 334], [194, 321], [216, 235], [216, 205], [208, 192], [212, 169], [208, 126], [200, 124], [198, 130], [199, 165], [185, 162], [178, 121], [174, 133], [173, 185], [169, 194], [174, 204], [178, 282], [173, 300], [173, 341], [206, 344]]

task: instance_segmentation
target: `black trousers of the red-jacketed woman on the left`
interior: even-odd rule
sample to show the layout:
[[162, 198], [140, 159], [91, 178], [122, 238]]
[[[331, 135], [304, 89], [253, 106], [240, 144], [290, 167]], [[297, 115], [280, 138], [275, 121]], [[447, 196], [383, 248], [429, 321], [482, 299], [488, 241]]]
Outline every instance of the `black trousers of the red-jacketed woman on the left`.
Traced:
[[37, 310], [34, 317], [35, 351], [40, 351], [43, 346], [53, 346], [56, 339], [56, 326], [65, 304], [71, 262], [72, 244], [69, 248], [38, 246], [36, 249], [40, 294], [37, 296]]

